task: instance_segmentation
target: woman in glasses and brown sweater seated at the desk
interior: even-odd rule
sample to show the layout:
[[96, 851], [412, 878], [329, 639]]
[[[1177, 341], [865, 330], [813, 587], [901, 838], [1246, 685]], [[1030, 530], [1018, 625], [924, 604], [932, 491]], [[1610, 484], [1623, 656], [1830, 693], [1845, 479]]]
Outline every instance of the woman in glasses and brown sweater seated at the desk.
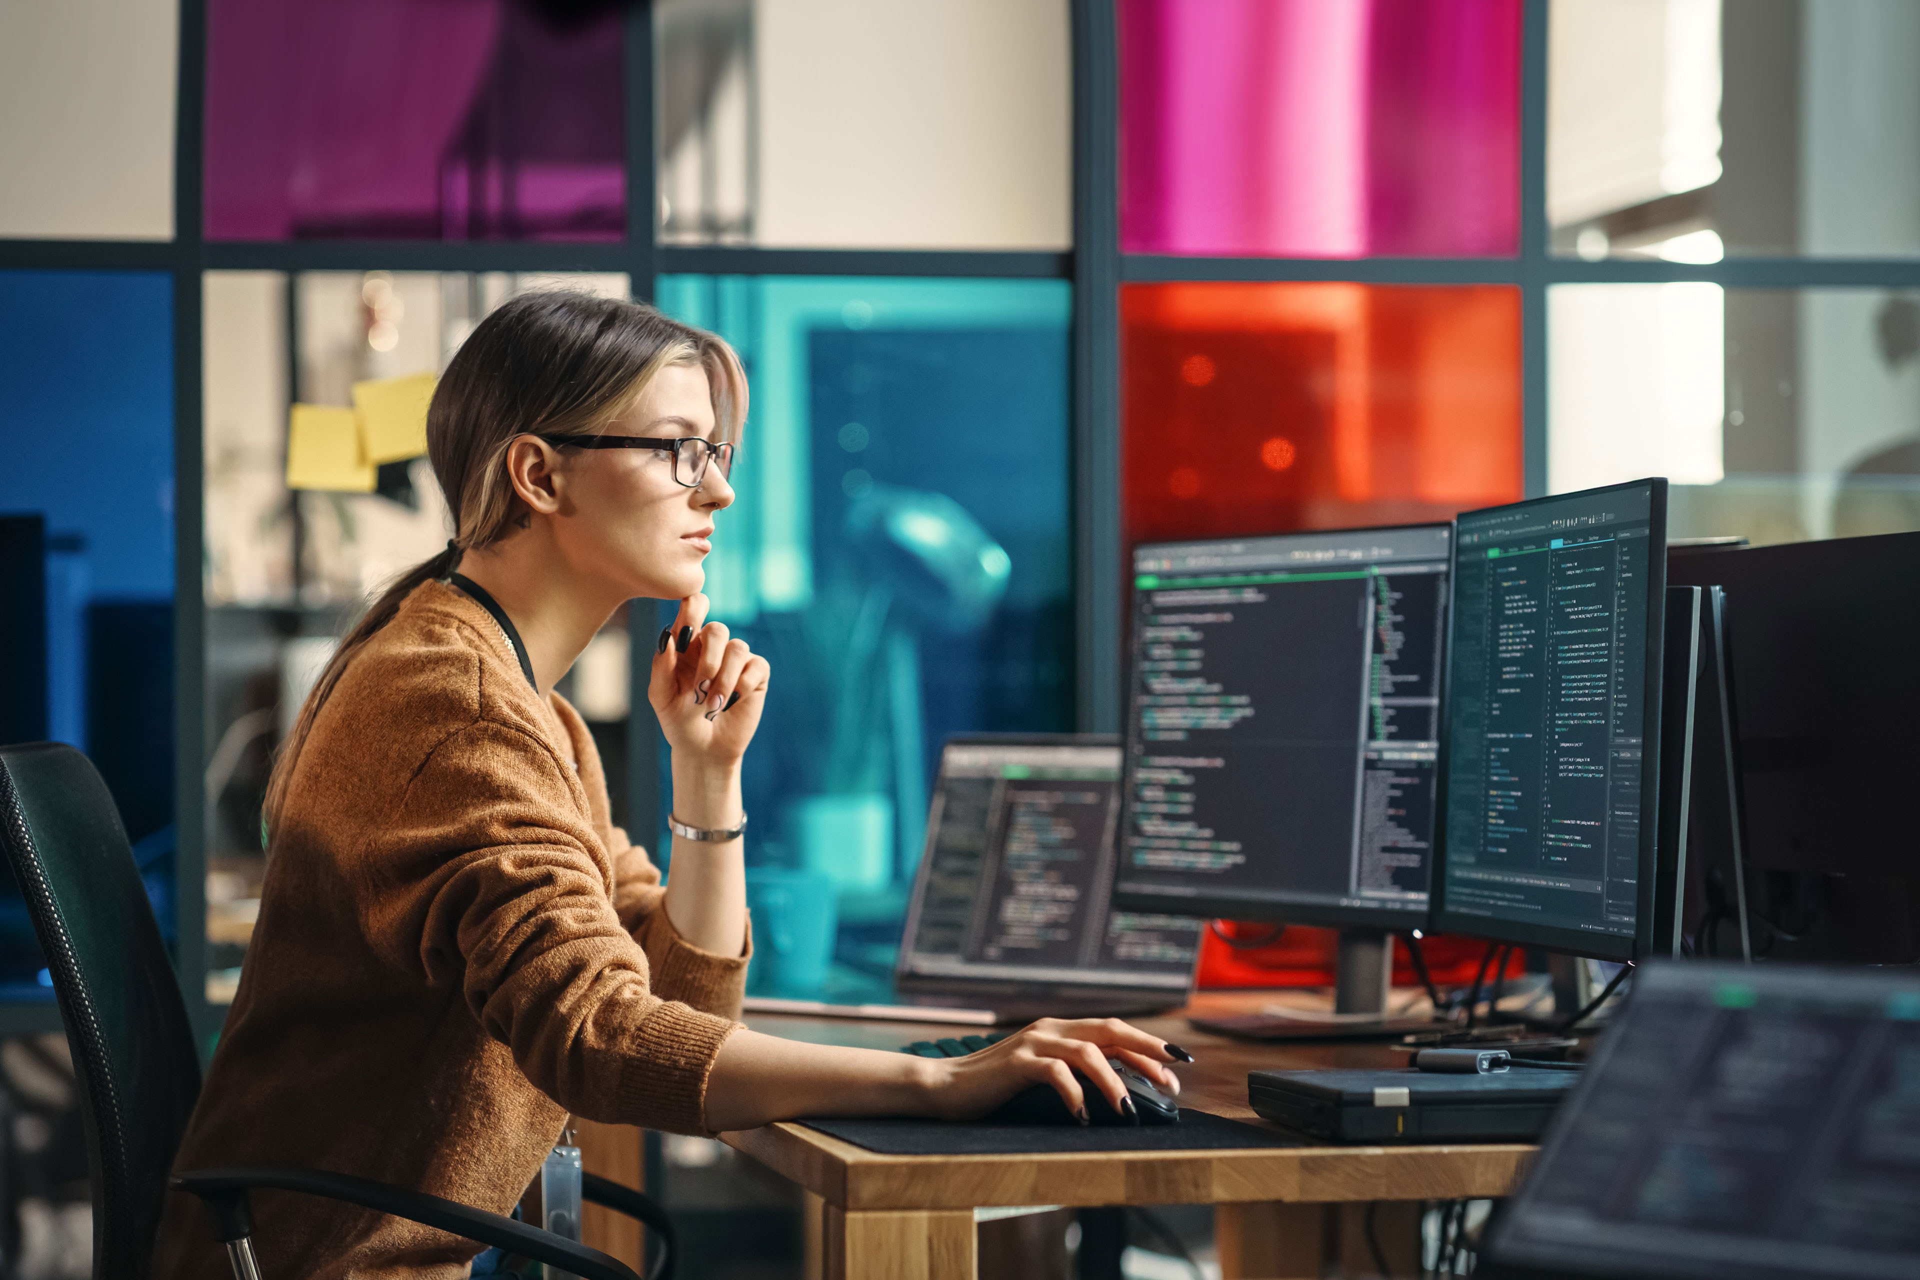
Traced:
[[[739, 770], [768, 664], [707, 622], [701, 562], [745, 413], [732, 349], [651, 307], [530, 294], [467, 338], [426, 426], [455, 537], [342, 641], [275, 764], [259, 927], [180, 1169], [311, 1165], [507, 1213], [568, 1113], [682, 1134], [960, 1119], [1033, 1082], [1081, 1111], [1073, 1067], [1125, 1096], [1108, 1055], [1177, 1088], [1167, 1046], [1117, 1021], [1037, 1023], [960, 1059], [733, 1021]], [[664, 889], [553, 693], [634, 597], [680, 601], [647, 687], [672, 747]], [[478, 1251], [324, 1199], [253, 1199], [267, 1276], [453, 1278]], [[223, 1272], [171, 1197], [156, 1274]]]

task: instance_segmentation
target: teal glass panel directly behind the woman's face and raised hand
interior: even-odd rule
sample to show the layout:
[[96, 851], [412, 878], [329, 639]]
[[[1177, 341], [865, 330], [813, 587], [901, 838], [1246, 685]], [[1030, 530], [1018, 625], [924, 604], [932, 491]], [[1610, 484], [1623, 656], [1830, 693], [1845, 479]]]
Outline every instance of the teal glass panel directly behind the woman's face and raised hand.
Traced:
[[[753, 988], [883, 996], [939, 745], [1071, 727], [1060, 280], [662, 276], [753, 388], [707, 593], [774, 664], [747, 754]], [[664, 842], [657, 841], [657, 846]]]

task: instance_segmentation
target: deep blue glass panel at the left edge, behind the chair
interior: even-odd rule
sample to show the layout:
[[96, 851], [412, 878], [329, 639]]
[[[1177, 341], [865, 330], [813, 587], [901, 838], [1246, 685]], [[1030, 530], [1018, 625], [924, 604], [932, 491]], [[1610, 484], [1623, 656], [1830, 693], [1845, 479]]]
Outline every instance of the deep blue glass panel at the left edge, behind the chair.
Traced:
[[[6, 557], [17, 583], [0, 593], [46, 601], [44, 664], [10, 674], [6, 737], [92, 756], [171, 931], [171, 278], [0, 271], [0, 516], [31, 547]], [[0, 894], [0, 1000], [52, 998], [40, 963], [17, 896]]]

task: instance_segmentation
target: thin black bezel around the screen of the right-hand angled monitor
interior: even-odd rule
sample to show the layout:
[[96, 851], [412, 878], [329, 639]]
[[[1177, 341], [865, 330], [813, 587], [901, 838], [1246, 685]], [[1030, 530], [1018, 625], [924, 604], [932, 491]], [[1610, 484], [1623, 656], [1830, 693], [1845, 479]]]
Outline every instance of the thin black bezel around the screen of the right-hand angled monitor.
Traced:
[[1628, 961], [1640, 960], [1653, 952], [1653, 915], [1657, 898], [1657, 879], [1659, 879], [1659, 781], [1661, 781], [1661, 699], [1665, 693], [1665, 662], [1667, 652], [1667, 480], [1663, 476], [1649, 476], [1645, 480], [1628, 480], [1626, 484], [1609, 484], [1594, 489], [1576, 489], [1572, 493], [1553, 493], [1548, 497], [1532, 497], [1521, 503], [1501, 503], [1498, 507], [1480, 507], [1476, 510], [1463, 510], [1453, 520], [1453, 547], [1448, 562], [1448, 593], [1455, 593], [1459, 587], [1459, 520], [1467, 516], [1478, 516], [1494, 510], [1523, 510], [1526, 507], [1544, 507], [1548, 503], [1563, 503], [1571, 497], [1588, 497], [1594, 493], [1617, 493], [1624, 489], [1638, 489], [1647, 486], [1647, 685], [1645, 685], [1645, 704], [1642, 706], [1642, 723], [1645, 725], [1645, 739], [1642, 747], [1642, 770], [1640, 770], [1640, 883], [1634, 898], [1634, 933], [1588, 933], [1580, 929], [1565, 929], [1559, 925], [1526, 925], [1517, 921], [1507, 921], [1492, 915], [1475, 915], [1467, 912], [1450, 912], [1446, 902], [1446, 821], [1448, 821], [1448, 793], [1453, 773], [1452, 743], [1453, 743], [1453, 626], [1457, 624], [1457, 612], [1448, 612], [1448, 635], [1446, 635], [1446, 654], [1442, 658], [1442, 681], [1440, 681], [1440, 794], [1434, 802], [1434, 862], [1432, 877], [1428, 879], [1427, 902], [1432, 908], [1432, 927], [1434, 933], [1459, 933], [1471, 938], [1486, 938], [1490, 942], [1515, 942], [1519, 946], [1538, 946], [1549, 952], [1563, 952], [1567, 956], [1588, 956], [1592, 960], [1609, 961]]

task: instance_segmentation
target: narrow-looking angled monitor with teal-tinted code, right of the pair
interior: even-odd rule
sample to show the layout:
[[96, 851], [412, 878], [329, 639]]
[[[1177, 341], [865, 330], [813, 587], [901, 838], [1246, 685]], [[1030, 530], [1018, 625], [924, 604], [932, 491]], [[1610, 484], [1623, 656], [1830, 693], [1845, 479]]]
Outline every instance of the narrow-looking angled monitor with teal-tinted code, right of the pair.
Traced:
[[1667, 482], [1455, 522], [1434, 927], [1653, 944]]

